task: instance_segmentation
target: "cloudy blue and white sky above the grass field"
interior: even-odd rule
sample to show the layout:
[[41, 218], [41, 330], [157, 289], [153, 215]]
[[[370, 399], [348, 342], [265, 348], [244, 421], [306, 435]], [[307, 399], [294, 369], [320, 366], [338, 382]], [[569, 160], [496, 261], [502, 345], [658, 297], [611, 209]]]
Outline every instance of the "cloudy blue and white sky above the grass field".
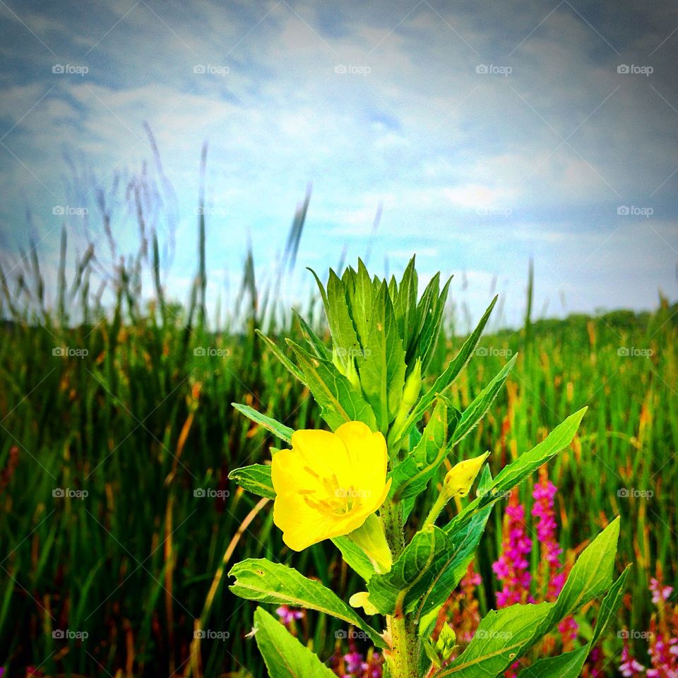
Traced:
[[496, 290], [520, 322], [530, 258], [537, 316], [651, 309], [677, 296], [677, 57], [667, 0], [0, 0], [0, 258], [54, 280], [65, 225], [71, 266], [112, 265], [137, 186], [186, 300], [207, 143], [210, 304], [249, 243], [270, 279], [311, 185], [290, 302], [307, 266], [416, 253], [475, 319]]

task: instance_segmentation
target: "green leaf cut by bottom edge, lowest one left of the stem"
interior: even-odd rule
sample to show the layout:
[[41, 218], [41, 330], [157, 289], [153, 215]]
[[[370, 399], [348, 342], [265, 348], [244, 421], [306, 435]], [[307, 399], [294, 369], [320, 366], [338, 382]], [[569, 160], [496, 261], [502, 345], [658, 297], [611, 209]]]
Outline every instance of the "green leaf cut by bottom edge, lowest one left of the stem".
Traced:
[[254, 628], [270, 678], [336, 678], [317, 655], [261, 607], [254, 611]]

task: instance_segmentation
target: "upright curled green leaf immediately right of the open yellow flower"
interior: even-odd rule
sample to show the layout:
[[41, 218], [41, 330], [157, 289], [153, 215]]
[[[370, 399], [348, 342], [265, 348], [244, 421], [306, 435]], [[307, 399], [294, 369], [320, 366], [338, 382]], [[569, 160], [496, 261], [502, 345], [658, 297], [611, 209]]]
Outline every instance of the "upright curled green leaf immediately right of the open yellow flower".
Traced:
[[424, 492], [429, 480], [443, 463], [448, 453], [447, 414], [447, 403], [439, 398], [419, 443], [393, 468], [391, 472], [393, 482], [389, 494], [394, 501]]

